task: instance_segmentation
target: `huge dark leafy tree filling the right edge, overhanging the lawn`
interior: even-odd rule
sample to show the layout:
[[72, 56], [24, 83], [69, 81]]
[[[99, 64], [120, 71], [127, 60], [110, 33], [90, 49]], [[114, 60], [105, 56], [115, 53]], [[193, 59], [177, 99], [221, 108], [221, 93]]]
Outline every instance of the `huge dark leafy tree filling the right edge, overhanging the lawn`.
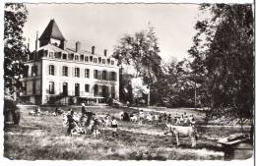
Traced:
[[198, 21], [189, 53], [196, 75], [204, 78], [213, 115], [252, 118], [253, 14], [252, 6], [204, 4], [211, 18]]

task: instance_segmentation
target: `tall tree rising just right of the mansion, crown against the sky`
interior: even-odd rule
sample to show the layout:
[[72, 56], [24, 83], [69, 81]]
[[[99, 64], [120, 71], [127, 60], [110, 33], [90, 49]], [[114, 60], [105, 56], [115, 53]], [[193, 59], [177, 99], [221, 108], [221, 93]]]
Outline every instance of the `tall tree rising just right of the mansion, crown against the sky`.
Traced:
[[[132, 67], [134, 78], [142, 78], [150, 87], [160, 76], [160, 48], [154, 28], [125, 34], [115, 47], [113, 57], [121, 66]], [[121, 90], [120, 90], [121, 91]]]

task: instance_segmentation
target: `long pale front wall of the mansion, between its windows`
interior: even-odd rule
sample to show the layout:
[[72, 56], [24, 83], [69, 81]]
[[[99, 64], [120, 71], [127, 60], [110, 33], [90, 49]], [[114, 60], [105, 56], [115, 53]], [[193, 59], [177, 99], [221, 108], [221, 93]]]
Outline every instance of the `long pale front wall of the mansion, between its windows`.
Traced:
[[[54, 66], [54, 76], [49, 75], [49, 65]], [[62, 75], [63, 66], [68, 67], [68, 77]], [[80, 77], [75, 77], [75, 68], [80, 69]], [[85, 69], [90, 69], [90, 78], [85, 78]], [[94, 71], [107, 71], [116, 73], [116, 81], [104, 81], [94, 79]], [[95, 97], [94, 85], [106, 85], [108, 97], [111, 96], [111, 86], [115, 88], [114, 98], [119, 98], [119, 68], [117, 66], [106, 66], [85, 62], [74, 62], [56, 59], [42, 60], [42, 103], [47, 101], [47, 96], [57, 95], [63, 92], [63, 83], [68, 84], [68, 95], [75, 95], [75, 83], [80, 84], [81, 97]], [[54, 83], [54, 94], [49, 94], [49, 83]], [[85, 91], [85, 84], [90, 84], [90, 92]]]

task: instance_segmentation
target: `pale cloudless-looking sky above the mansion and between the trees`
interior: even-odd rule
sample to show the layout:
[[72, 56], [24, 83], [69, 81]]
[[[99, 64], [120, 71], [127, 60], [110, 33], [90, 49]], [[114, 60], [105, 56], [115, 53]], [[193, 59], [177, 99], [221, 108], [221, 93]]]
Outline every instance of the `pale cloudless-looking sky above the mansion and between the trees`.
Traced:
[[96, 53], [112, 52], [123, 34], [155, 28], [159, 38], [160, 56], [168, 62], [188, 57], [194, 26], [199, 18], [198, 5], [193, 4], [27, 4], [28, 22], [25, 37], [34, 49], [35, 33], [39, 36], [54, 19], [68, 40], [68, 45], [82, 42], [82, 47]]

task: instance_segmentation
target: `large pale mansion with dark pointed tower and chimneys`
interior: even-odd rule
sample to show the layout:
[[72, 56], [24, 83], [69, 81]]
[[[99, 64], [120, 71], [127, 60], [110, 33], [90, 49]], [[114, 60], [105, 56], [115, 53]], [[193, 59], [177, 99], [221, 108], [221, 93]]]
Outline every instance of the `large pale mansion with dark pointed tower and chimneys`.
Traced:
[[[37, 41], [37, 38], [36, 38]], [[54, 20], [38, 38], [39, 47], [28, 57], [28, 74], [22, 79], [24, 91], [20, 98], [35, 104], [103, 102], [119, 98], [117, 60], [83, 50], [66, 47], [66, 39]]]

